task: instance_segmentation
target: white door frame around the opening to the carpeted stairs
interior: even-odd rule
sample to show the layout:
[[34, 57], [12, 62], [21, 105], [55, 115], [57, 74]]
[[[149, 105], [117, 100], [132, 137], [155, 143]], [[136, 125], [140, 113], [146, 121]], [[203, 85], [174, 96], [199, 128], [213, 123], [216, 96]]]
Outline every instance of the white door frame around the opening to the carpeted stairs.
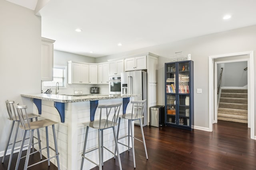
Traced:
[[209, 56], [209, 131], [212, 131], [214, 123], [214, 59], [222, 57], [234, 57], [240, 55], [249, 55], [248, 59], [248, 115], [250, 116], [250, 138], [254, 137], [254, 52], [245, 51], [239, 53], [230, 53], [223, 55]]

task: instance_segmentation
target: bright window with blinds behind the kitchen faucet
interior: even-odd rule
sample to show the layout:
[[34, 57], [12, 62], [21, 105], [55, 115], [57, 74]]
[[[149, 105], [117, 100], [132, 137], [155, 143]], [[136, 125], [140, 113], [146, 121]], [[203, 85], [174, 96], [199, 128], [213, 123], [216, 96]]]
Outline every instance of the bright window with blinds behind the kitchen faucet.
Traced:
[[59, 82], [60, 88], [66, 88], [66, 66], [53, 67], [53, 81], [42, 82], [43, 88], [55, 88], [56, 83]]

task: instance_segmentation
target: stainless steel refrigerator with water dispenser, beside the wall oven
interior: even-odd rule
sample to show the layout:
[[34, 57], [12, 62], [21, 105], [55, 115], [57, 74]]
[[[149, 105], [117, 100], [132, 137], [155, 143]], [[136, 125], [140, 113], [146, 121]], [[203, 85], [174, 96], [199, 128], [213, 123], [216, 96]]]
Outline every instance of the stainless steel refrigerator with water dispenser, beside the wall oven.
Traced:
[[[134, 100], [147, 99], [147, 72], [144, 70], [121, 72], [121, 94], [141, 94], [140, 97], [134, 97]], [[144, 107], [144, 119], [142, 125], [147, 125], [147, 102]], [[139, 124], [140, 121], [134, 121]]]

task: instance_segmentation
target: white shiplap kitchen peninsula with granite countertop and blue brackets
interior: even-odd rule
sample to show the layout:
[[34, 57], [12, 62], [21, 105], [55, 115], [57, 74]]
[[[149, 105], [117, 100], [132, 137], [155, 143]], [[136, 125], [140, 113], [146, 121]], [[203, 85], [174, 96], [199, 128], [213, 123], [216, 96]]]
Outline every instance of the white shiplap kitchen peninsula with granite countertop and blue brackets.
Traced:
[[[122, 113], [130, 112], [132, 106], [130, 100], [133, 97], [140, 95], [55, 95], [55, 94], [21, 94], [22, 97], [32, 98], [34, 102], [34, 113], [41, 114], [41, 117], [51, 119], [59, 122], [56, 125], [56, 136], [58, 151], [60, 153], [60, 168], [62, 170], [78, 170], [81, 166], [82, 149], [84, 144], [85, 126], [84, 122], [93, 121], [99, 117], [98, 105], [121, 103], [120, 115]], [[50, 128], [50, 127], [49, 127]], [[124, 135], [128, 131], [128, 123], [120, 122], [120, 134]], [[111, 129], [110, 129], [111, 130]], [[49, 133], [51, 130], [49, 130]], [[42, 147], [46, 147], [45, 131], [40, 129], [40, 134], [43, 136]], [[34, 134], [36, 135], [36, 134]], [[97, 147], [97, 131], [89, 129], [87, 149], [94, 149]], [[128, 140], [123, 139], [124, 143], [128, 145]], [[49, 135], [50, 147], [54, 147], [53, 137]], [[104, 146], [114, 151], [114, 137], [112, 133], [104, 131]], [[127, 147], [118, 145], [120, 153], [127, 150]], [[36, 148], [38, 149], [38, 148]], [[43, 153], [46, 156], [46, 152]], [[54, 154], [54, 153], [50, 153]], [[98, 162], [97, 150], [90, 152], [90, 158]], [[112, 158], [114, 155], [104, 150], [104, 161]], [[52, 159], [56, 164], [56, 160]], [[84, 169], [91, 169], [95, 165], [89, 161], [84, 162]]]

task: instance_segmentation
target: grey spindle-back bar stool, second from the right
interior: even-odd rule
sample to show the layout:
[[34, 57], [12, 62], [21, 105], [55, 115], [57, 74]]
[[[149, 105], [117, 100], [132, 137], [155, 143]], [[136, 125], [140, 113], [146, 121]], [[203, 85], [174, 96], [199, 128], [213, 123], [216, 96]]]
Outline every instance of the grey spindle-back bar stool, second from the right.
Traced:
[[[120, 155], [119, 155], [119, 150], [118, 150], [118, 144], [117, 144], [117, 138], [116, 138], [116, 130], [115, 130], [115, 126], [117, 125], [117, 118], [119, 115], [121, 105], [122, 105], [122, 103], [110, 104], [110, 105], [99, 105], [98, 108], [100, 108], [100, 119], [96, 120], [96, 121], [90, 121], [87, 123], [83, 123], [84, 125], [86, 125], [86, 133], [85, 133], [85, 139], [84, 139], [84, 149], [83, 149], [83, 153], [82, 153], [81, 170], [83, 169], [84, 159], [89, 160], [93, 164], [99, 166], [99, 170], [102, 170], [103, 148], [105, 148], [106, 150], [108, 150], [109, 152], [114, 154], [115, 156], [118, 156], [119, 168], [120, 168], [120, 170], [122, 170], [121, 160], [120, 160]], [[110, 115], [112, 108], [114, 109], [112, 111], [114, 113], [112, 113]], [[102, 109], [106, 109], [106, 116], [102, 115]], [[104, 119], [103, 119], [103, 117], [104, 117]], [[86, 152], [86, 143], [87, 143], [89, 127], [93, 128], [93, 129], [98, 129], [98, 147], [96, 149], [99, 150], [99, 164], [97, 164], [96, 162], [90, 160], [89, 158], [87, 158], [85, 156], [85, 154], [92, 152], [93, 150], [96, 150], [96, 149], [92, 149], [92, 150], [89, 150]], [[108, 128], [113, 129], [114, 139], [115, 139], [115, 144], [116, 144], [115, 152], [117, 151], [117, 154], [115, 154], [114, 152], [112, 152], [111, 150], [109, 150], [103, 146], [103, 130], [108, 129]]]

